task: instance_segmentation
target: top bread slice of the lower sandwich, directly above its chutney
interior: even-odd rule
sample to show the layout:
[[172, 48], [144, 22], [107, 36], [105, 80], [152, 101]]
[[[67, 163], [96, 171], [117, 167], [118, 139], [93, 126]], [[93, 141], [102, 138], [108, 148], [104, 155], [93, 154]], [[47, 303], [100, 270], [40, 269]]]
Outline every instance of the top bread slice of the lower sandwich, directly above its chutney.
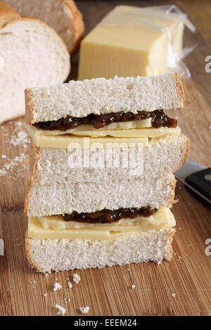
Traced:
[[101, 182], [51, 181], [27, 186], [25, 212], [30, 217], [60, 215], [73, 211], [96, 212], [151, 206], [170, 208], [174, 201], [174, 175], [126, 177]]

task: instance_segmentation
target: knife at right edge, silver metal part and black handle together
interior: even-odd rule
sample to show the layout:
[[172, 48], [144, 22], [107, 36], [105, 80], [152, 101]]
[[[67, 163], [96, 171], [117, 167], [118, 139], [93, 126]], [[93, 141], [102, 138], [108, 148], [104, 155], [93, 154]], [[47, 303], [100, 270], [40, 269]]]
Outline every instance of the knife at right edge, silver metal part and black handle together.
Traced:
[[[177, 172], [174, 172], [175, 177], [185, 184], [187, 190], [196, 198], [203, 200], [211, 205], [211, 168], [206, 168], [203, 165], [196, 163], [191, 158], [188, 158]], [[207, 204], [206, 204], [207, 205]], [[207, 205], [207, 206], [208, 206]]]

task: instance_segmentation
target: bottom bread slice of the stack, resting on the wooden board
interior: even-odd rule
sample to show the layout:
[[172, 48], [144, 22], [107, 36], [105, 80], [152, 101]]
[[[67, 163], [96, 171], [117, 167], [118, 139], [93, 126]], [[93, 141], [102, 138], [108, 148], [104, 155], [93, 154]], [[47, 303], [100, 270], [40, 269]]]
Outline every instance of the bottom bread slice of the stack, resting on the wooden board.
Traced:
[[27, 260], [39, 272], [102, 268], [172, 258], [174, 229], [143, 231], [139, 234], [91, 241], [77, 239], [30, 239], [26, 235]]

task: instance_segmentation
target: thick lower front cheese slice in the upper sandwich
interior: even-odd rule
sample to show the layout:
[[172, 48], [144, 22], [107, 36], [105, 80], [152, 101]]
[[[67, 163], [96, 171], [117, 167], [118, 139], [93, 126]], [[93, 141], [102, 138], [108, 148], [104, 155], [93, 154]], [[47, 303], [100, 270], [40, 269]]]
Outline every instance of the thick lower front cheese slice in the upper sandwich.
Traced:
[[148, 146], [148, 137], [77, 137], [71, 134], [41, 135], [35, 127], [27, 127], [36, 146], [45, 148], [117, 148]]

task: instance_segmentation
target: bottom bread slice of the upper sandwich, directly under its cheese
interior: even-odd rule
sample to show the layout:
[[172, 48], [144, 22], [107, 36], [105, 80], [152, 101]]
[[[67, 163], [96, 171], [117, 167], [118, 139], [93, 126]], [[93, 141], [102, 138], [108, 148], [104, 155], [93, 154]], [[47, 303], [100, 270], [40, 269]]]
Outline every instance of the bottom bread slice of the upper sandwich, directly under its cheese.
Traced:
[[[32, 143], [32, 146], [34, 144]], [[136, 148], [137, 151], [137, 148]], [[143, 170], [136, 172], [136, 177], [159, 177], [160, 175], [171, 174], [186, 163], [189, 153], [189, 140], [184, 134], [179, 136], [168, 135], [157, 139], [151, 139], [148, 146], [143, 147]], [[89, 151], [89, 154], [81, 152], [80, 149], [75, 151], [68, 151], [67, 149], [58, 148], [33, 148], [30, 153], [32, 168], [32, 182], [40, 185], [53, 184], [53, 182], [60, 182], [71, 185], [72, 182], [82, 184], [83, 182], [109, 182], [113, 179], [132, 179], [134, 173], [131, 173], [129, 167], [125, 168], [122, 162], [122, 153], [120, 151], [120, 166], [114, 167], [117, 164], [119, 156], [117, 148], [113, 149], [109, 160], [112, 161], [110, 167], [106, 163], [106, 150], [95, 149]], [[33, 159], [35, 156], [35, 159]], [[76, 167], [70, 167], [68, 160], [75, 158], [77, 162]], [[137, 154], [136, 154], [137, 156]], [[89, 164], [89, 160], [93, 159], [103, 160], [103, 168], [78, 167], [78, 164]], [[137, 158], [136, 158], [137, 159]], [[142, 160], [142, 159], [141, 159]], [[109, 165], [109, 164], [108, 164]], [[136, 164], [137, 167], [140, 165]], [[80, 166], [80, 165], [79, 165]], [[136, 168], [137, 168], [136, 167]]]

